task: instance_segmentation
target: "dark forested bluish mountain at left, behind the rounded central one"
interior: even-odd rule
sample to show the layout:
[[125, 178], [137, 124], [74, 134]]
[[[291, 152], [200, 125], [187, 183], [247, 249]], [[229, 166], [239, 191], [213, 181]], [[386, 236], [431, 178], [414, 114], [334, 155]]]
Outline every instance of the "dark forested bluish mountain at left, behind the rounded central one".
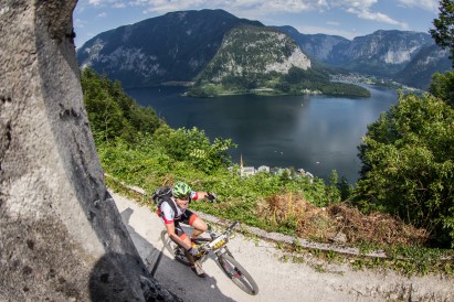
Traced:
[[240, 24], [263, 26], [223, 10], [171, 12], [98, 34], [77, 50], [77, 61], [124, 87], [190, 82]]

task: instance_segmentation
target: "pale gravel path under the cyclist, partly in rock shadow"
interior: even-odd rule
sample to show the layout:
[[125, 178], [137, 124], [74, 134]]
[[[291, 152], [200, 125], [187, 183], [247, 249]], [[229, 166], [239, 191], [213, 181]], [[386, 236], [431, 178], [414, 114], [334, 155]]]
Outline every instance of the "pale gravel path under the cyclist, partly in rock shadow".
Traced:
[[310, 263], [283, 262], [274, 244], [236, 235], [229, 247], [258, 284], [260, 293], [252, 296], [234, 285], [212, 259], [203, 265], [205, 279], [171, 259], [162, 251], [159, 235], [163, 225], [157, 215], [120, 195], [113, 193], [113, 197], [149, 270], [184, 301], [454, 301], [453, 280], [352, 271], [347, 266], [330, 266], [320, 272]]

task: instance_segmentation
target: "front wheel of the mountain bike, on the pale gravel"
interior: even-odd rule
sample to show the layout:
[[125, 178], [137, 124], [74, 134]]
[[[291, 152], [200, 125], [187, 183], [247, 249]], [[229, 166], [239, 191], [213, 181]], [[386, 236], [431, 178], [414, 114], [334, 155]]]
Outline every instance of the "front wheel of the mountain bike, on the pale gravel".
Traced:
[[255, 295], [258, 287], [251, 274], [231, 256], [223, 254], [219, 256], [219, 262], [225, 274], [244, 292]]

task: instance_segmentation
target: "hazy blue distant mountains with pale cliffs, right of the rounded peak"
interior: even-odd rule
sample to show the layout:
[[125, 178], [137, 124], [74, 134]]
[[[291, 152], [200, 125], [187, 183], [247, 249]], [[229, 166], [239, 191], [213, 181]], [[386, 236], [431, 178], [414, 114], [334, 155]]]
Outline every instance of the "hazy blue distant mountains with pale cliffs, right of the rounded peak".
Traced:
[[[302, 34], [292, 26], [276, 28], [289, 34], [310, 58], [342, 69], [393, 78], [425, 89], [434, 72], [451, 69], [447, 53], [430, 34], [376, 31], [352, 41], [325, 34]], [[411, 67], [414, 66], [414, 67]]]

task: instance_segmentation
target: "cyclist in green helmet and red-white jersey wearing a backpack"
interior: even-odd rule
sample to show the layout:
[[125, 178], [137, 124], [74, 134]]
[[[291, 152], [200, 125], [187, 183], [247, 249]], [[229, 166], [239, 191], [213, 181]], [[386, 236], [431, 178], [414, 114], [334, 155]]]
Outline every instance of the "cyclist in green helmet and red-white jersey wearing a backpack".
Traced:
[[[193, 239], [205, 231], [208, 226], [199, 216], [197, 216], [197, 214], [188, 209], [188, 205], [191, 201], [203, 198], [213, 202], [215, 201], [215, 195], [208, 192], [193, 192], [188, 184], [178, 182], [171, 188], [169, 201], [162, 203], [158, 209], [158, 216], [161, 217], [165, 223], [170, 239], [184, 248], [186, 257], [191, 263], [192, 271], [201, 278], [207, 277], [207, 274], [202, 270], [201, 265], [198, 261], [194, 261], [193, 257], [199, 250], [193, 244]], [[184, 229], [180, 226], [180, 223], [190, 225], [193, 228], [190, 236], [186, 234]]]

